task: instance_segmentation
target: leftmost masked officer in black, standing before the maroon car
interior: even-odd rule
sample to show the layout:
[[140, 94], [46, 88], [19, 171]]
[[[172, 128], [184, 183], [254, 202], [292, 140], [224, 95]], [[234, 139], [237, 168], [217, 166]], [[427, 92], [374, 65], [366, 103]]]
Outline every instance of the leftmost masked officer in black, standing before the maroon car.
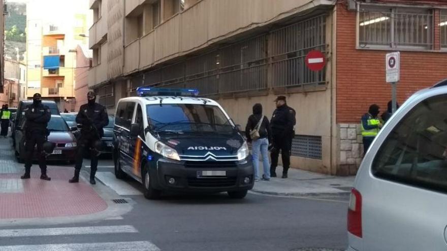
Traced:
[[25, 108], [25, 174], [20, 178], [30, 178], [31, 161], [33, 161], [34, 147], [37, 145], [39, 154], [39, 167], [41, 170], [41, 180], [51, 181], [47, 176], [46, 153], [44, 143], [49, 134], [47, 130], [48, 122], [51, 119], [51, 112], [48, 106], [42, 104], [42, 96], [34, 94], [33, 104]]

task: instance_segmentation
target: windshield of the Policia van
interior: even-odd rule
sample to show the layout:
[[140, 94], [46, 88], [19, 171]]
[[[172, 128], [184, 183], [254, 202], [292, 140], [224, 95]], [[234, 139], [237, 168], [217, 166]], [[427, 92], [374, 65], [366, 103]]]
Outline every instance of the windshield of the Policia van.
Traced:
[[215, 105], [148, 104], [146, 110], [150, 126], [156, 131], [231, 133], [234, 130]]

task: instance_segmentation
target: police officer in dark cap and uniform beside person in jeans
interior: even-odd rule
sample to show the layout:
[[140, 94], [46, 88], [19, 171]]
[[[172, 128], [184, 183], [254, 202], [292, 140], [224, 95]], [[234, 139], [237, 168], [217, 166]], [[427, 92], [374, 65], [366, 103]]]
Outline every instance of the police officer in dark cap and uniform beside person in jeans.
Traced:
[[270, 166], [270, 176], [276, 177], [276, 166], [278, 165], [279, 151], [282, 158], [282, 178], [287, 177], [287, 171], [290, 167], [290, 155], [292, 149], [292, 139], [295, 136], [294, 126], [296, 124], [295, 110], [286, 103], [285, 96], [278, 96], [275, 99], [276, 110], [270, 120], [272, 128], [272, 149], [270, 157], [272, 164]]

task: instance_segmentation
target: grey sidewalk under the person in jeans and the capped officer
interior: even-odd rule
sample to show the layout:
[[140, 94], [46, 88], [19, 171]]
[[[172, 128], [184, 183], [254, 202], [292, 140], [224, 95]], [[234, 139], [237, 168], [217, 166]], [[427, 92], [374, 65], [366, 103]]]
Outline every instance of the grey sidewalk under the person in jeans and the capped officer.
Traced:
[[[262, 164], [260, 164], [262, 167]], [[262, 168], [260, 168], [262, 169]], [[260, 170], [262, 175], [262, 170]], [[290, 168], [289, 177], [281, 178], [282, 167], [278, 166], [278, 177], [254, 184], [252, 192], [280, 196], [331, 197], [349, 195], [355, 176], [331, 176]]]

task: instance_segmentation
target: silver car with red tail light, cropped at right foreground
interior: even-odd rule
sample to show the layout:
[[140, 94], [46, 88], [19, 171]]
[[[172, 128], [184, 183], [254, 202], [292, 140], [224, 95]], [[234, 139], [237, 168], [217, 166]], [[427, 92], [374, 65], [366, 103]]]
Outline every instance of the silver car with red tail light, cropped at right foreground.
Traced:
[[447, 249], [447, 79], [412, 95], [357, 173], [349, 251]]

